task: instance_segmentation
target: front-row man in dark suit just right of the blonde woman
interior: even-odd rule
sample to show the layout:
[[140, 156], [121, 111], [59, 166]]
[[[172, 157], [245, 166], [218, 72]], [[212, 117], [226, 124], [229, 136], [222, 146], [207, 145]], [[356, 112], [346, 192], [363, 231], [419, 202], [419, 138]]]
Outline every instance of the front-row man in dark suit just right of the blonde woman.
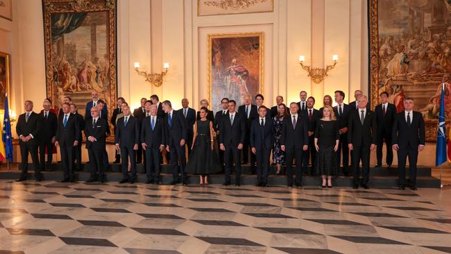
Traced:
[[352, 176], [353, 188], [359, 188], [360, 172], [359, 164], [363, 171], [361, 187], [368, 189], [370, 178], [370, 153], [376, 148], [377, 143], [377, 119], [375, 112], [366, 109], [368, 98], [359, 96], [359, 108], [351, 110], [348, 120], [348, 148], [352, 151]]

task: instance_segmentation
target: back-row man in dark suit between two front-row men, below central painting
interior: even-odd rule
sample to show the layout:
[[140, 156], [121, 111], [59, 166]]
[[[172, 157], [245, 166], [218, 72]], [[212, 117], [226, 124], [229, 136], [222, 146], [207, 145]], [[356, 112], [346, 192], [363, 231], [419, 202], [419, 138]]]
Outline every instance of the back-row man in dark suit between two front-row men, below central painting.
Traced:
[[250, 160], [249, 158], [249, 152], [250, 152], [250, 125], [258, 117], [257, 112], [257, 105], [253, 105], [252, 103], [252, 97], [250, 94], [246, 94], [243, 97], [244, 99], [244, 105], [240, 105], [238, 108], [239, 115], [243, 117], [245, 121], [246, 130], [244, 133], [244, 144], [243, 144], [243, 164], [247, 164], [250, 162], [250, 171], [249, 173], [253, 174], [255, 173], [255, 154], [250, 153]]

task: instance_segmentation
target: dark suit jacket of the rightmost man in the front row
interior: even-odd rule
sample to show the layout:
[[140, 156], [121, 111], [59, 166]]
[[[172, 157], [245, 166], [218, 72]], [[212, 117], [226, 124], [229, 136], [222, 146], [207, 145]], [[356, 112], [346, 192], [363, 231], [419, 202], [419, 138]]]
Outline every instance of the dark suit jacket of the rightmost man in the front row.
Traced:
[[417, 149], [419, 144], [425, 144], [425, 121], [420, 112], [412, 111], [410, 127], [407, 127], [405, 111], [395, 115], [393, 121], [391, 142], [398, 144], [400, 149]]

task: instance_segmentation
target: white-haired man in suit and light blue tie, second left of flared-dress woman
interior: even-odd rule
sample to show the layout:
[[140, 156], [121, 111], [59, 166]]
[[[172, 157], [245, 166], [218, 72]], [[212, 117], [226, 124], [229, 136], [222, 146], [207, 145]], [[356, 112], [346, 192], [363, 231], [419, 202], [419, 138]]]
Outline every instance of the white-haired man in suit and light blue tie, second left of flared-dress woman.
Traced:
[[159, 185], [160, 181], [160, 157], [166, 144], [164, 133], [164, 119], [157, 116], [157, 105], [151, 105], [151, 115], [142, 120], [141, 146], [146, 153], [146, 183]]

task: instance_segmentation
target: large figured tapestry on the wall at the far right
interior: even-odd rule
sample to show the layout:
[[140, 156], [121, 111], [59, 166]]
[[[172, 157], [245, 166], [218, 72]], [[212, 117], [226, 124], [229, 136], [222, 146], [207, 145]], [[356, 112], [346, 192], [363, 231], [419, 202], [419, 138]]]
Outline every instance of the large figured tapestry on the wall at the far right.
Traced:
[[398, 112], [411, 97], [423, 114], [427, 141], [436, 140], [441, 84], [451, 120], [451, 0], [368, 0], [371, 105], [382, 92]]

